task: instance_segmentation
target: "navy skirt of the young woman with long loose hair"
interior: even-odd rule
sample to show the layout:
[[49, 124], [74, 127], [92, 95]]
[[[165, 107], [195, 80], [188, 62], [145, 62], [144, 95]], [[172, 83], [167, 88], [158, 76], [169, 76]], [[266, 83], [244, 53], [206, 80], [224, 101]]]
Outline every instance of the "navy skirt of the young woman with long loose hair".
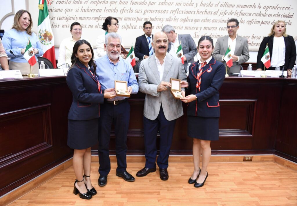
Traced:
[[67, 145], [72, 149], [86, 149], [98, 143], [99, 118], [77, 121], [68, 120]]

